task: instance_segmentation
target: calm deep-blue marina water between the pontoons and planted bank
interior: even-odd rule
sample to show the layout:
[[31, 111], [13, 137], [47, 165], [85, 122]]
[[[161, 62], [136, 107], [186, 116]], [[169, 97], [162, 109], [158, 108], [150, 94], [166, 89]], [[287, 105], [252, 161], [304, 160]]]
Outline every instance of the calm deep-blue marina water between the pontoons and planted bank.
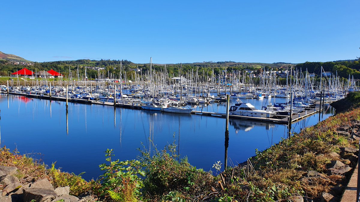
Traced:
[[[261, 108], [266, 99], [249, 102]], [[225, 104], [195, 107], [201, 108], [225, 112]], [[321, 120], [334, 113], [329, 106], [325, 109]], [[99, 164], [105, 162], [107, 148], [114, 149], [117, 159], [135, 159], [141, 142], [148, 148], [151, 138], [163, 148], [174, 140], [174, 133], [180, 155], [187, 156], [190, 164], [211, 170], [216, 161], [224, 162], [223, 118], [69, 103], [67, 132], [65, 102], [0, 95], [0, 110], [2, 146], [20, 153], [40, 153], [36, 157], [48, 165], [56, 161], [63, 171], [86, 172], [85, 179], [102, 174]], [[318, 114], [293, 124], [293, 131], [316, 123]], [[229, 165], [246, 161], [256, 148], [264, 150], [278, 143], [287, 131], [285, 125], [230, 119]]]

